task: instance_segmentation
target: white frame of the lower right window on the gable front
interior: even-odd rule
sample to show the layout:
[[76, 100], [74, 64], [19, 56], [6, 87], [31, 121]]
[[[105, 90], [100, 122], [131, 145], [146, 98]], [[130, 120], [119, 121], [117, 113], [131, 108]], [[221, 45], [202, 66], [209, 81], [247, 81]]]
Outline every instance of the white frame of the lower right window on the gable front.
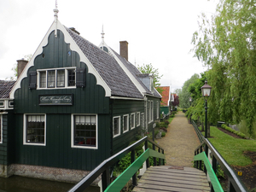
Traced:
[[[86, 116], [86, 115], [95, 115], [96, 116], [96, 146], [79, 146], [74, 145], [74, 116]], [[72, 113], [71, 114], [71, 148], [88, 148], [88, 149], [98, 149], [98, 115], [95, 113]]]

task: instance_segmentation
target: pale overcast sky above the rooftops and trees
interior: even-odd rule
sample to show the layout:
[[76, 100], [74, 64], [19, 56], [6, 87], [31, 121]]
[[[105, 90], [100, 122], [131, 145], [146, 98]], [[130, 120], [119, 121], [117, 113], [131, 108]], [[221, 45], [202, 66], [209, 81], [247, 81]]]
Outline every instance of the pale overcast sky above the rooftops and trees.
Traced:
[[[181, 89], [195, 73], [207, 70], [189, 53], [201, 13], [214, 14], [218, 0], [59, 0], [58, 19], [75, 27], [92, 44], [102, 41], [119, 53], [129, 43], [128, 60], [152, 64], [163, 75], [161, 86]], [[55, 0], [0, 0], [0, 79], [14, 76], [12, 67], [34, 54], [54, 21]]]

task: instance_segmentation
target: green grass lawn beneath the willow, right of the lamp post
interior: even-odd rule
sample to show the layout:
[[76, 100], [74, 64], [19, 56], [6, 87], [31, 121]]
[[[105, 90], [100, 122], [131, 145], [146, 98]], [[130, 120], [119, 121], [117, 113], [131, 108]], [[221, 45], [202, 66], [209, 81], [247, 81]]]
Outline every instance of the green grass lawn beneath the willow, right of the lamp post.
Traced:
[[[205, 135], [204, 132], [202, 134]], [[247, 166], [253, 163], [252, 160], [243, 155], [243, 152], [256, 152], [256, 140], [234, 138], [213, 126], [211, 126], [211, 137], [208, 138], [209, 141], [230, 165]]]

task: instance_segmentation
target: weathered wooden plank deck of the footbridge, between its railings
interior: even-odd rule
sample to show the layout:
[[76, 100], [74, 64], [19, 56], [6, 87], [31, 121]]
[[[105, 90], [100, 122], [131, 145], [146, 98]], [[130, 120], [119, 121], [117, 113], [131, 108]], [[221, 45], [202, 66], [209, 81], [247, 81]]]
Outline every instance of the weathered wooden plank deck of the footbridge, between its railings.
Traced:
[[169, 169], [169, 167], [149, 167], [133, 191], [210, 191], [204, 172], [198, 172], [193, 167], [184, 167], [183, 170]]

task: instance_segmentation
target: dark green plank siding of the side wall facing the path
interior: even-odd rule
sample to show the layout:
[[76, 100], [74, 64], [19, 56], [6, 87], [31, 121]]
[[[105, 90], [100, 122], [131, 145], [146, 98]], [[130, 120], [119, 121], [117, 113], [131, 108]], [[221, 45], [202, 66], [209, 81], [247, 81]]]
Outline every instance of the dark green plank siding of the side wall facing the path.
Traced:
[[[127, 147], [129, 143], [136, 140], [141, 129], [142, 122], [137, 126], [137, 112], [144, 113], [144, 101], [140, 100], [113, 100], [113, 117], [120, 116], [121, 132], [118, 137], [113, 138], [113, 154]], [[135, 113], [135, 128], [131, 129], [131, 113]], [[129, 131], [123, 133], [123, 117], [129, 114]], [[141, 116], [141, 115], [140, 115]]]

